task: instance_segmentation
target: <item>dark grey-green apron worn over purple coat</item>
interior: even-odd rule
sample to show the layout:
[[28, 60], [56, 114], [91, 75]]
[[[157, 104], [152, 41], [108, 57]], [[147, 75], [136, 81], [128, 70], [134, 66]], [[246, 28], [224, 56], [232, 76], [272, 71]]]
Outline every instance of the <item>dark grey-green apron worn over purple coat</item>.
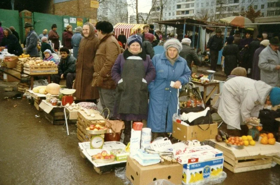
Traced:
[[119, 114], [146, 114], [148, 87], [142, 82], [146, 70], [142, 60], [126, 59], [122, 69], [122, 80], [117, 86], [116, 102]]

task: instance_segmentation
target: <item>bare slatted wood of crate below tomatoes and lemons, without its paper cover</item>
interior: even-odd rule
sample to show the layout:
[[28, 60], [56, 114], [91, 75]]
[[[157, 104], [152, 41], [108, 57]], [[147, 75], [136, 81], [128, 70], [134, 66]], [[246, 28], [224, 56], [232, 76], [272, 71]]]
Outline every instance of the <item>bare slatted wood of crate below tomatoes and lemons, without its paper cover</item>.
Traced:
[[232, 150], [218, 144], [215, 148], [223, 152], [225, 158], [224, 167], [234, 173], [248, 172], [258, 169], [271, 168], [273, 156], [255, 155], [235, 157]]

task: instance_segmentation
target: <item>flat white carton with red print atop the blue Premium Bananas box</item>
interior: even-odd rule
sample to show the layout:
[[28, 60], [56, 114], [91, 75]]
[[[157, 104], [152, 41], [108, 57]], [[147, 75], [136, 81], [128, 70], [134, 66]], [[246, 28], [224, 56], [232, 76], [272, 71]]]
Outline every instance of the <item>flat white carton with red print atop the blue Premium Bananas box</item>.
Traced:
[[211, 160], [213, 158], [222, 157], [223, 152], [218, 149], [205, 150], [193, 153], [187, 153], [181, 155], [177, 158], [178, 163], [187, 164], [187, 163], [196, 163]]

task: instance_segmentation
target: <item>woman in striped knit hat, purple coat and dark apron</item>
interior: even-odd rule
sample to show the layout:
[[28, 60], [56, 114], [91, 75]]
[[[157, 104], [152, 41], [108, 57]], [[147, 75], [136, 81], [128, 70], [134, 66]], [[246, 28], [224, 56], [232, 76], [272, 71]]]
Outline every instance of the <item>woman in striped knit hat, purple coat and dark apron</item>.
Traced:
[[148, 85], [156, 76], [150, 56], [142, 50], [141, 36], [128, 37], [127, 45], [128, 49], [119, 54], [111, 73], [117, 84], [113, 117], [125, 122], [125, 145], [130, 141], [131, 121], [147, 119]]

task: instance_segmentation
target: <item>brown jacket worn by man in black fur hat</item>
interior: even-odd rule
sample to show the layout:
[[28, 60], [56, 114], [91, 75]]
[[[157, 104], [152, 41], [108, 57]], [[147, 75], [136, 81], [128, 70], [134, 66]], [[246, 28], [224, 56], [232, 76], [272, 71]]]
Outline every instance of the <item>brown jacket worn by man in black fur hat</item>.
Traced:
[[112, 67], [121, 53], [118, 41], [112, 33], [106, 35], [99, 42], [94, 60], [94, 74], [92, 86], [103, 89], [115, 89], [116, 84], [112, 80]]

